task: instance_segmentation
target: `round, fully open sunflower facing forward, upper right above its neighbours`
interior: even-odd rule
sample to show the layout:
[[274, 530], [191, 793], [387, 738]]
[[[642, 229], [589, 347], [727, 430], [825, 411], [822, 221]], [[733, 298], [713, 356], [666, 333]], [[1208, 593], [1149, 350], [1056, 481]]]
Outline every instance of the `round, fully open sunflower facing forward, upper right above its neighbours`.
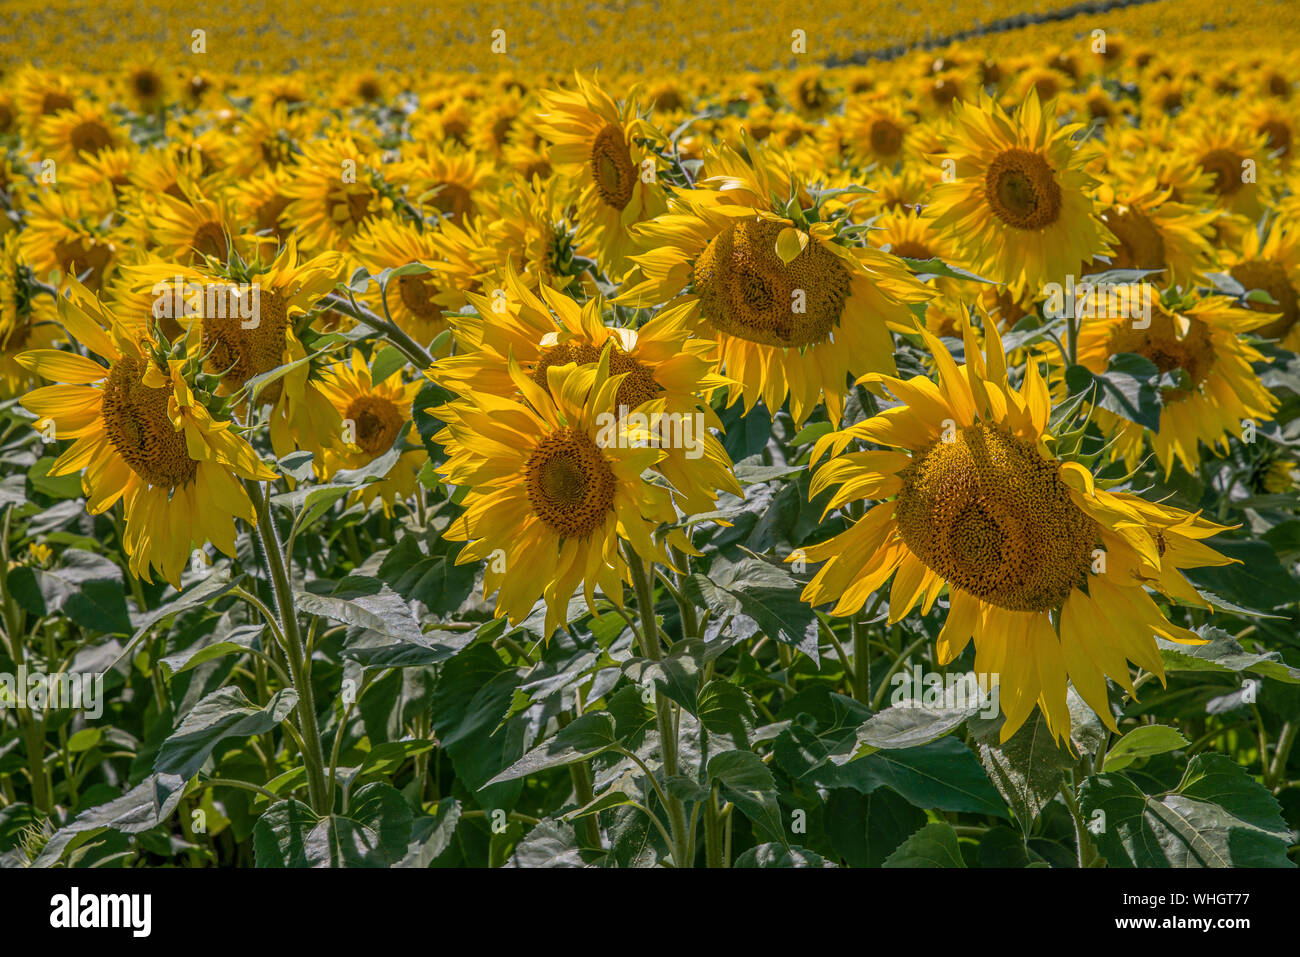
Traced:
[[1114, 237], [1102, 225], [1071, 135], [1032, 91], [1011, 118], [985, 94], [956, 108], [949, 150], [954, 178], [933, 190], [928, 209], [974, 272], [1017, 294], [1063, 281]]

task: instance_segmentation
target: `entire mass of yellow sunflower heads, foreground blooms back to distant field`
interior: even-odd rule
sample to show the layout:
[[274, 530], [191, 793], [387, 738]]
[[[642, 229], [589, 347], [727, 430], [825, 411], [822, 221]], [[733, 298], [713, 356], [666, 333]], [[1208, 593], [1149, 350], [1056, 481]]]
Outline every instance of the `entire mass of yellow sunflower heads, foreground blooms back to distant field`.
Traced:
[[[52, 475], [122, 503], [133, 575], [179, 588], [195, 547], [234, 557], [260, 482], [380, 469], [354, 501], [448, 490], [458, 560], [549, 633], [576, 592], [621, 605], [646, 563], [699, 554], [692, 525], [744, 494], [723, 416], [760, 406], [810, 429], [811, 494], [849, 520], [786, 557], [822, 563], [807, 602], [945, 601], [939, 661], [974, 644], [1001, 675], [1004, 740], [1035, 706], [1065, 736], [1067, 679], [1113, 726], [1106, 679], [1135, 692], [1154, 637], [1201, 641], [1171, 610], [1210, 607], [1183, 571], [1228, 560], [1204, 544], [1222, 525], [1123, 473], [1254, 441], [1279, 407], [1261, 372], [1300, 343], [1290, 69], [1212, 77], [1112, 38], [347, 108], [29, 70], [4, 386], [70, 442]], [[1131, 295], [1084, 315], [1062, 290], [1088, 282]], [[1154, 419], [1075, 387], [1126, 356]], [[424, 387], [441, 426], [408, 442]]]

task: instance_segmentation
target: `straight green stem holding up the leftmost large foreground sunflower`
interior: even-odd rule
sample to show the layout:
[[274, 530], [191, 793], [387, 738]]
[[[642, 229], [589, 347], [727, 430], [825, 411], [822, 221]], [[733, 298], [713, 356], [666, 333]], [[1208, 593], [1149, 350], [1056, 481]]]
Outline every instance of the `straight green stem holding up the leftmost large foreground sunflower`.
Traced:
[[316, 700], [312, 694], [311, 661], [303, 645], [303, 635], [298, 627], [298, 610], [294, 606], [292, 583], [285, 566], [285, 553], [280, 546], [280, 533], [270, 516], [270, 495], [261, 482], [246, 480], [248, 495], [257, 512], [256, 532], [261, 540], [261, 550], [270, 571], [270, 584], [276, 593], [276, 606], [280, 610], [280, 633], [285, 637], [285, 657], [289, 674], [298, 692], [298, 729], [302, 735], [303, 763], [307, 766], [307, 792], [312, 810], [329, 814], [326, 804], [329, 789], [325, 785], [325, 753], [321, 748], [321, 732], [316, 723]]

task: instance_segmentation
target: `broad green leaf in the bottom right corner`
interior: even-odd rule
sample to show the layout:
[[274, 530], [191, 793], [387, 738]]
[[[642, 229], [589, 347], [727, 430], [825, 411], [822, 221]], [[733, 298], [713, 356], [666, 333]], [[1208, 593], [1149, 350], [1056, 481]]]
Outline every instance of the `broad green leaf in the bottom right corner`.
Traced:
[[1222, 754], [1197, 754], [1178, 788], [1145, 794], [1123, 774], [1088, 778], [1088, 830], [1112, 867], [1294, 867], [1266, 788]]

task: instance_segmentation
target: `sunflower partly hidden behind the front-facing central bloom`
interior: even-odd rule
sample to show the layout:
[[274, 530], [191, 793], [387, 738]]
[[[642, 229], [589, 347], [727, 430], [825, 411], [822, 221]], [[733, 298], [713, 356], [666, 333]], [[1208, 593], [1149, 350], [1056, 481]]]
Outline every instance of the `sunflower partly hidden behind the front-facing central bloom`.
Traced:
[[603, 411], [618, 417], [658, 413], [660, 423], [690, 423], [689, 436], [684, 425], [677, 433], [664, 429], [667, 441], [660, 445], [666, 455], [655, 465], [677, 493], [682, 511], [711, 510], [718, 499], [715, 489], [742, 494], [725, 450], [710, 432], [720, 432], [722, 421], [707, 399], [728, 385], [714, 372], [710, 342], [689, 338], [685, 329], [663, 317], [640, 329], [606, 325], [599, 296], [580, 306], [545, 285], [534, 294], [508, 265], [503, 291], [504, 298], [469, 294], [478, 316], [450, 319], [456, 354], [430, 369], [433, 381], [460, 395], [511, 397], [519, 391], [511, 377], [515, 368], [545, 385], [552, 367], [593, 364], [608, 348], [610, 373], [623, 381]]

